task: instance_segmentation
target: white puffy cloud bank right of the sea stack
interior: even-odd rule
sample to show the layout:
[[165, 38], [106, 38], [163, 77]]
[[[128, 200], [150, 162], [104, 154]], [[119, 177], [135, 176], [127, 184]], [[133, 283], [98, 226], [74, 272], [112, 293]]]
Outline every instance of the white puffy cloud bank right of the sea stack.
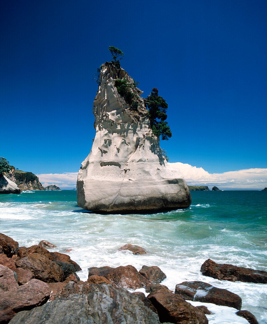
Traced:
[[[267, 187], [267, 169], [251, 168], [224, 173], [208, 173], [203, 168], [180, 162], [169, 163], [180, 170], [187, 184], [219, 186], [219, 189], [261, 190]], [[210, 188], [211, 189], [211, 188]]]

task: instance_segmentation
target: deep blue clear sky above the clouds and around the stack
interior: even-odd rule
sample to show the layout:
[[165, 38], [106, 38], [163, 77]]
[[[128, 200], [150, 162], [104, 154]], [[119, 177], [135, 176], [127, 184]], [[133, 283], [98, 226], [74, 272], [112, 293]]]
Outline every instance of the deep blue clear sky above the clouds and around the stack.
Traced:
[[169, 104], [170, 162], [266, 168], [266, 1], [0, 2], [0, 156], [34, 173], [89, 154], [92, 75], [120, 48], [147, 96]]

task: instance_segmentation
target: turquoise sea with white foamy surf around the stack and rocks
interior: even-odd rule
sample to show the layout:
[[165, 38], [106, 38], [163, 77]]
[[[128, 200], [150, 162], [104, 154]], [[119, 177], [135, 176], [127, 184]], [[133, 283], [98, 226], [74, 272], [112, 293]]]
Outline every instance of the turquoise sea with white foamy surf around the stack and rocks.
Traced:
[[[25, 191], [0, 195], [0, 232], [31, 246], [45, 239], [68, 254], [82, 268], [131, 264], [157, 265], [167, 278], [162, 284], [174, 290], [183, 281], [204, 281], [228, 289], [242, 298], [259, 323], [267, 323], [267, 284], [219, 281], [200, 272], [210, 258], [267, 271], [267, 192], [191, 191], [190, 208], [155, 214], [100, 215], [77, 206], [76, 191]], [[147, 254], [117, 251], [126, 243]], [[65, 252], [66, 253], [66, 252]], [[139, 289], [143, 291], [144, 289]], [[236, 309], [206, 305], [214, 314], [210, 324], [248, 323]]]

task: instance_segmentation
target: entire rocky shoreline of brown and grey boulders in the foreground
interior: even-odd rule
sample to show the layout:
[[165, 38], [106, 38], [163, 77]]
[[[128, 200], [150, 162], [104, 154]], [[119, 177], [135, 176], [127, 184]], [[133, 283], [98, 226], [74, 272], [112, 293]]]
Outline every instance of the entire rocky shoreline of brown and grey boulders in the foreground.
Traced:
[[[237, 315], [258, 323], [241, 298], [202, 281], [176, 284], [175, 291], [161, 284], [166, 275], [157, 266], [91, 267], [83, 282], [80, 266], [67, 254], [50, 252], [47, 241], [31, 247], [0, 233], [0, 323], [208, 323], [211, 312], [189, 301], [234, 307]], [[146, 253], [126, 244], [133, 254]], [[205, 276], [219, 280], [267, 283], [267, 272], [218, 264], [201, 266]], [[144, 288], [146, 293], [127, 289]], [[49, 302], [48, 302], [49, 301]], [[37, 307], [38, 306], [38, 307]]]

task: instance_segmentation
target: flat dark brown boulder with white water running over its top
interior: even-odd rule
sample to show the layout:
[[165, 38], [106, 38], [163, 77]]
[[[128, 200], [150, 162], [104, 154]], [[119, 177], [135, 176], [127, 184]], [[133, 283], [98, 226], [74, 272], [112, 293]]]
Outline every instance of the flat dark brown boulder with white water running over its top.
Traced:
[[239, 295], [226, 289], [216, 288], [202, 281], [184, 281], [175, 286], [175, 294], [187, 300], [213, 303], [221, 306], [241, 309], [242, 299]]

